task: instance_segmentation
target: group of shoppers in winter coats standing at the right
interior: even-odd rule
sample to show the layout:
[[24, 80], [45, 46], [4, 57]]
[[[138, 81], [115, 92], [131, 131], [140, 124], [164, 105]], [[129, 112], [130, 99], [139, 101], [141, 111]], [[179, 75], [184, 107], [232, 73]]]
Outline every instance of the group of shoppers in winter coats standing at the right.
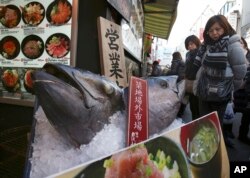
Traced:
[[[223, 117], [228, 103], [234, 102], [235, 112], [243, 114], [239, 140], [250, 144], [247, 137], [250, 123], [250, 52], [247, 43], [223, 15], [208, 19], [203, 39], [201, 43], [197, 36], [188, 36], [184, 42], [187, 49], [185, 62], [180, 52], [174, 52], [167, 75], [178, 75], [178, 81], [185, 79], [186, 83], [192, 81], [192, 91], [186, 92], [192, 119], [217, 111], [228, 147], [233, 147], [233, 143], [226, 134]], [[182, 115], [184, 109], [185, 104], [179, 114]]]

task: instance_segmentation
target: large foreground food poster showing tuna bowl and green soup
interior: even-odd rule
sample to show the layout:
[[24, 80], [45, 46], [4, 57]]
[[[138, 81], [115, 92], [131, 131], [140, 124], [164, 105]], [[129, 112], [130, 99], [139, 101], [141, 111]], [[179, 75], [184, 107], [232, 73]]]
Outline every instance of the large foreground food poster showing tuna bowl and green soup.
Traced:
[[228, 178], [229, 174], [218, 115], [213, 112], [110, 156], [49, 177]]

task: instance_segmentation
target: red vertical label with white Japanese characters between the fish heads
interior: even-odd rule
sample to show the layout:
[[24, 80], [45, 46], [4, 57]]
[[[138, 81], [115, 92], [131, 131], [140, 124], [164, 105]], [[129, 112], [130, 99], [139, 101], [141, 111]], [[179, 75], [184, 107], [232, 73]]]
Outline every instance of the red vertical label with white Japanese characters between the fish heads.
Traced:
[[148, 139], [147, 81], [131, 77], [128, 106], [128, 146]]

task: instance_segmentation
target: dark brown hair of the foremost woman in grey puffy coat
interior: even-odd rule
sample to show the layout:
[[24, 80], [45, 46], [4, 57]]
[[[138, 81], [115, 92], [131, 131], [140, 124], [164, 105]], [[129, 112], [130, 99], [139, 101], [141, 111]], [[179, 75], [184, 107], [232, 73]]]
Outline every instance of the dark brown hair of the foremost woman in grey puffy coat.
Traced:
[[211, 44], [213, 43], [212, 38], [210, 38], [208, 31], [209, 29], [215, 24], [219, 23], [220, 26], [224, 29], [224, 34], [223, 36], [232, 36], [236, 34], [236, 31], [233, 29], [233, 27], [230, 25], [230, 23], [227, 21], [227, 18], [224, 15], [214, 15], [208, 19], [207, 24], [205, 26], [205, 30], [203, 32], [203, 38], [204, 38], [204, 43], [206, 44]]

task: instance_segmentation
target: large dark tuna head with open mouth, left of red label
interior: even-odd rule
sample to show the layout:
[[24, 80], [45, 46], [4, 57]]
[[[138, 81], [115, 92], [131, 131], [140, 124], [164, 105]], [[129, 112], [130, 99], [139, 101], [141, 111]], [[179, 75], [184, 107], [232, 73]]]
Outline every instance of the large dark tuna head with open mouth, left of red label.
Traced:
[[60, 64], [33, 73], [34, 91], [52, 126], [75, 146], [87, 144], [123, 107], [122, 90], [105, 77]]

